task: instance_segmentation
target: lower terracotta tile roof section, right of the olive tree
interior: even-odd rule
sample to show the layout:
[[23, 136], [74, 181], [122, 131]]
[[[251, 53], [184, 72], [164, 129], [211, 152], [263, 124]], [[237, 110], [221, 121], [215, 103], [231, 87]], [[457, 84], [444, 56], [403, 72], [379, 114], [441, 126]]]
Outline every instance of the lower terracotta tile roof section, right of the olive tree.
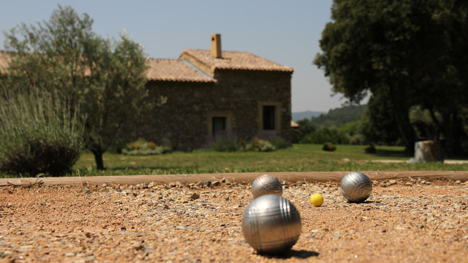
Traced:
[[200, 70], [179, 59], [148, 59], [150, 68], [146, 71], [149, 80], [216, 82]]

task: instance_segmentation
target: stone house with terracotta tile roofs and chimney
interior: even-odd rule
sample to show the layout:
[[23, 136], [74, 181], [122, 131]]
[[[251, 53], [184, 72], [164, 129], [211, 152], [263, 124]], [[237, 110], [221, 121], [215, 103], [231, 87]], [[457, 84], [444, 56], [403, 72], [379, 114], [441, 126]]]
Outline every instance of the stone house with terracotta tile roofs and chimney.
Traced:
[[129, 132], [176, 150], [203, 147], [220, 132], [242, 138], [274, 133], [291, 138], [291, 67], [248, 52], [184, 49], [178, 59], [150, 59], [150, 98], [167, 102]]

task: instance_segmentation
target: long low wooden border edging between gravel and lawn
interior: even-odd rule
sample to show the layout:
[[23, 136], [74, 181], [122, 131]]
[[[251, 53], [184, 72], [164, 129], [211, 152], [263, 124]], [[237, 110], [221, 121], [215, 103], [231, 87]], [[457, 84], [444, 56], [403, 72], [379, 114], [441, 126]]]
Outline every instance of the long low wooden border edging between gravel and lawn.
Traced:
[[[468, 180], [468, 171], [362, 171], [371, 180], [405, 177], [424, 177], [446, 180]], [[82, 186], [100, 184], [135, 185], [144, 182], [167, 184], [170, 182], [196, 183], [199, 181], [217, 181], [222, 178], [231, 182], [253, 181], [262, 174], [272, 174], [280, 180], [297, 181], [340, 181], [347, 171], [329, 172], [245, 172], [245, 173], [203, 173], [203, 174], [161, 174], [161, 175], [122, 175], [122, 176], [87, 176], [87, 177], [44, 177], [39, 181], [44, 185]], [[1, 186], [28, 186], [38, 183], [38, 178], [0, 178]]]

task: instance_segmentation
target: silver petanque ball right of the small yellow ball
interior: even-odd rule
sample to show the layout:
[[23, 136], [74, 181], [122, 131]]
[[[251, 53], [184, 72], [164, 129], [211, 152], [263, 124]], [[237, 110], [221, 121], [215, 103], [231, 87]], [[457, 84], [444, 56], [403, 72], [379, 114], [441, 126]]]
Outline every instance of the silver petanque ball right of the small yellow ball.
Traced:
[[364, 202], [372, 192], [372, 182], [364, 173], [353, 171], [341, 179], [340, 191], [348, 202]]

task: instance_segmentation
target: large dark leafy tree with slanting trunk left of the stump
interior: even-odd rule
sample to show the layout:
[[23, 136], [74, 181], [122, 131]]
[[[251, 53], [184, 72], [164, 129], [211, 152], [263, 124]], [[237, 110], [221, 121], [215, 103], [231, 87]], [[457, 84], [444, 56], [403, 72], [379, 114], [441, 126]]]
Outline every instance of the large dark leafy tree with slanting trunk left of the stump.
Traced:
[[410, 107], [434, 99], [423, 80], [445, 79], [449, 68], [445, 58], [451, 42], [441, 37], [447, 34], [447, 23], [437, 17], [447, 6], [442, 0], [334, 0], [332, 22], [320, 40], [323, 53], [314, 59], [333, 92], [351, 102], [368, 92], [388, 96], [407, 152], [417, 139]]

